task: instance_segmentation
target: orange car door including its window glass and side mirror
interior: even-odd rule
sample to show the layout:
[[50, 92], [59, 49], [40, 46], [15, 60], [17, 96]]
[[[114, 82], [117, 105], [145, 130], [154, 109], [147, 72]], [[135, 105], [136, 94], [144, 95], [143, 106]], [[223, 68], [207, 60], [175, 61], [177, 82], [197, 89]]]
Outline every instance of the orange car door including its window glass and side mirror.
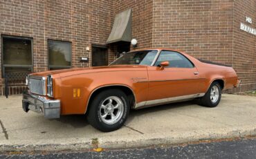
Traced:
[[[159, 67], [161, 62], [170, 64], [161, 69]], [[170, 102], [167, 98], [173, 97], [173, 100], [182, 100], [186, 97], [196, 96], [200, 93], [200, 82], [203, 82], [199, 77], [198, 70], [187, 57], [170, 50], [161, 50], [154, 66], [148, 66], [148, 75], [147, 101]]]

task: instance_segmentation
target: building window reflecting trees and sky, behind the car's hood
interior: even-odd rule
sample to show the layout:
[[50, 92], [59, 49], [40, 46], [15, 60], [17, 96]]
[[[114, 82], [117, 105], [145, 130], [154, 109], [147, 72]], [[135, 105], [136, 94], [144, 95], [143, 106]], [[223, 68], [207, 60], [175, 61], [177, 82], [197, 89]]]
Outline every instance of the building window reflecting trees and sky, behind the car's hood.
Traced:
[[71, 42], [48, 40], [49, 70], [71, 68]]

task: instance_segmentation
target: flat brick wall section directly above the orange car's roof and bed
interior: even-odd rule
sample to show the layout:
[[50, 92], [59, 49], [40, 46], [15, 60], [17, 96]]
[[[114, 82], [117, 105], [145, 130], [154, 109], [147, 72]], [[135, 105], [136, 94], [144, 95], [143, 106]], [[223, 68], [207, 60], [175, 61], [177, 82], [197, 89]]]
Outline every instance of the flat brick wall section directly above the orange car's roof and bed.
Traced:
[[156, 0], [153, 46], [231, 65], [232, 12], [230, 0]]

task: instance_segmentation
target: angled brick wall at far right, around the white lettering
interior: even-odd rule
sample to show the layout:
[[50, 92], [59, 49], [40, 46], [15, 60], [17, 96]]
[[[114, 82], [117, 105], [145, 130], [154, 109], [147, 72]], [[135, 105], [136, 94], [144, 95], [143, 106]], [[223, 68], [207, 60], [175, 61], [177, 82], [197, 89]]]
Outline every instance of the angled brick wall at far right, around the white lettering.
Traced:
[[[253, 19], [246, 23], [246, 17]], [[240, 30], [240, 24], [256, 28], [256, 1], [237, 0], [234, 10], [234, 68], [241, 78], [237, 91], [256, 89], [256, 35]]]

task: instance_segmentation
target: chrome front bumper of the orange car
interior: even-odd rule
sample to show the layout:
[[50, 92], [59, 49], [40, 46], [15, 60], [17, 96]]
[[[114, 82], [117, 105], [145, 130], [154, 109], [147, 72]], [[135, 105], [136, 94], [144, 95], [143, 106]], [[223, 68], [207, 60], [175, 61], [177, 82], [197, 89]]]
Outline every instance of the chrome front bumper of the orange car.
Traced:
[[22, 108], [25, 112], [29, 110], [43, 113], [44, 118], [60, 118], [60, 100], [48, 100], [40, 95], [33, 95], [28, 91], [23, 93]]

